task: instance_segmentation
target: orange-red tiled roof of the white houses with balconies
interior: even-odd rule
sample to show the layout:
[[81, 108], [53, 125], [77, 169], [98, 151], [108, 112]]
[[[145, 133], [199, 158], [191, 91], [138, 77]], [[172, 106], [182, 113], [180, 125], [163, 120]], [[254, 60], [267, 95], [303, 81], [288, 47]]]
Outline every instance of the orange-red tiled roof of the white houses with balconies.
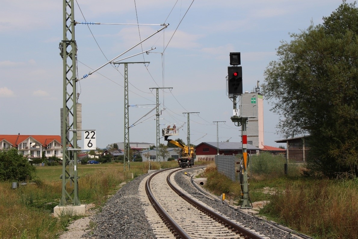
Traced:
[[0, 141], [6, 140], [11, 145], [19, 145], [21, 142], [25, 141], [29, 137], [34, 138], [34, 140], [41, 143], [43, 146], [48, 145], [50, 142], [56, 140], [58, 143], [62, 144], [61, 136], [59, 135], [0, 135]]

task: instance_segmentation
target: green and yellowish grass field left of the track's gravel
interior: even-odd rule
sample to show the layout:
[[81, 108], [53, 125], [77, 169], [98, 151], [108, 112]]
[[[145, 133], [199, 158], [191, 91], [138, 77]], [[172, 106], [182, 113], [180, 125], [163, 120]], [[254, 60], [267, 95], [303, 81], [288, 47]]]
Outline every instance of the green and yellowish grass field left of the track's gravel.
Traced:
[[[151, 162], [151, 169], [178, 167], [178, 163]], [[12, 189], [12, 182], [0, 182], [0, 238], [58, 238], [77, 215], [53, 218], [53, 208], [62, 194], [62, 166], [36, 168], [34, 180]], [[78, 165], [78, 197], [81, 203], [102, 206], [122, 182], [147, 173], [149, 162], [132, 162], [130, 170], [123, 164]]]

